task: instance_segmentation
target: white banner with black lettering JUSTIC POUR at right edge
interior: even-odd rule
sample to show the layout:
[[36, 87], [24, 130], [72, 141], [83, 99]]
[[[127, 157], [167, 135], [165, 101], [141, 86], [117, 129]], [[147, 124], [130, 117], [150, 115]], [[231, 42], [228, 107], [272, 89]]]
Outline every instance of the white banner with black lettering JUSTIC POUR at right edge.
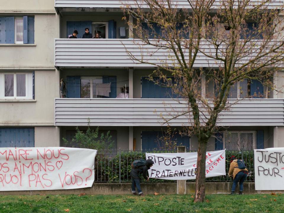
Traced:
[[284, 148], [254, 150], [255, 190], [284, 190]]

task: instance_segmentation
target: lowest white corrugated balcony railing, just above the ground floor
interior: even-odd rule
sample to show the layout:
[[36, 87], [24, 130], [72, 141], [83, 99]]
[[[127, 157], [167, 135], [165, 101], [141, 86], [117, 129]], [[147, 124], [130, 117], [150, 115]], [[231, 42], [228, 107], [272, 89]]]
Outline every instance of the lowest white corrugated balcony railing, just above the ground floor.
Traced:
[[[54, 111], [55, 126], [87, 126], [88, 119], [91, 126], [161, 126], [161, 115], [169, 119], [185, 110], [173, 99], [55, 99]], [[189, 119], [183, 115], [170, 125], [190, 125]], [[217, 125], [284, 126], [284, 99], [241, 100], [220, 114]]]

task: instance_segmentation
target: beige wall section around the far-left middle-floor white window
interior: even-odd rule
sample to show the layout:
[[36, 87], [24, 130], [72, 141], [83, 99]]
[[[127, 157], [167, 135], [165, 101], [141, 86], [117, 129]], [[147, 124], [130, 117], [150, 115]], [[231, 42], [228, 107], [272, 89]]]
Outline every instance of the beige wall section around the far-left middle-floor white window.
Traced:
[[1, 102], [2, 125], [54, 125], [55, 70], [35, 70], [35, 102]]

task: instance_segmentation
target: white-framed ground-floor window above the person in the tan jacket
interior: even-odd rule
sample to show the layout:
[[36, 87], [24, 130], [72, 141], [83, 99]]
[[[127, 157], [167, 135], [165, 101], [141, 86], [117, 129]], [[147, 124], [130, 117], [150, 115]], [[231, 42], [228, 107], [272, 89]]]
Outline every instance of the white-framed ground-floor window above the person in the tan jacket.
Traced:
[[251, 150], [256, 148], [256, 131], [224, 131], [224, 149]]

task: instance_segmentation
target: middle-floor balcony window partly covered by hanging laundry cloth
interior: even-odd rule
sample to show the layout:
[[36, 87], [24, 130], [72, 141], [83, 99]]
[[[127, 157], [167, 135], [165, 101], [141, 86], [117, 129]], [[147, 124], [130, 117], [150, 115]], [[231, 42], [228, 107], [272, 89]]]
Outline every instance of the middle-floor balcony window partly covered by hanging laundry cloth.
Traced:
[[102, 77], [81, 77], [81, 98], [101, 98], [96, 95], [98, 83], [103, 83]]

